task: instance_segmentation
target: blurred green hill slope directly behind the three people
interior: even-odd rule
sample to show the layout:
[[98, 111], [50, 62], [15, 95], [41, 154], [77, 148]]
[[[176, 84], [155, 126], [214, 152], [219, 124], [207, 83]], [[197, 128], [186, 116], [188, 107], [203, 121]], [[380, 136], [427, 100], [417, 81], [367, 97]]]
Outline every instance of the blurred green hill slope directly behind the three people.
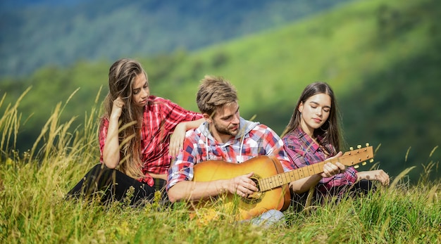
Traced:
[[[197, 110], [195, 94], [206, 74], [221, 75], [239, 92], [241, 115], [279, 134], [306, 84], [328, 82], [337, 94], [347, 147], [370, 143], [380, 168], [396, 176], [439, 162], [441, 143], [441, 24], [435, 0], [353, 1], [277, 29], [232, 39], [198, 51], [132, 56], [149, 74], [151, 93]], [[33, 142], [55, 103], [70, 99], [62, 120], [82, 122], [99, 87], [107, 92], [112, 61], [46, 67], [29, 77], [3, 79], [7, 98], [32, 90], [20, 105], [18, 146]], [[104, 94], [101, 94], [101, 98]], [[410, 150], [409, 150], [410, 148]], [[433, 152], [433, 153], [431, 153]], [[361, 167], [361, 170], [368, 166]]]

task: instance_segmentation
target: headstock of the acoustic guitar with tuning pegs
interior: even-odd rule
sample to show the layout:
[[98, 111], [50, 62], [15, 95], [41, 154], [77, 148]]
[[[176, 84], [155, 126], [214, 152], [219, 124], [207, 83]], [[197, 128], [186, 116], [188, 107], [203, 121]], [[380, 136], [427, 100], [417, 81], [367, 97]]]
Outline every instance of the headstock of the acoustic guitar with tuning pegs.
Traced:
[[346, 166], [354, 166], [354, 168], [358, 168], [359, 163], [366, 165], [367, 160], [373, 162], [373, 148], [369, 146], [369, 143], [366, 143], [366, 147], [364, 148], [359, 145], [356, 149], [352, 147], [349, 149], [350, 150], [344, 153], [342, 157], [337, 159], [338, 162]]

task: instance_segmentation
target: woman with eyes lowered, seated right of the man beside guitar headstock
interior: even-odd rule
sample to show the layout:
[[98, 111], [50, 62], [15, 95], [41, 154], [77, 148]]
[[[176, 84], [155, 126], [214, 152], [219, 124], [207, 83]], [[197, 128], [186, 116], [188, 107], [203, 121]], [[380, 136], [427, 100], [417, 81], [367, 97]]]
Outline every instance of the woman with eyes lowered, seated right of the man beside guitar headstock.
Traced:
[[[314, 82], [306, 86], [291, 119], [282, 134], [284, 149], [294, 168], [301, 168], [328, 158], [338, 158], [341, 136], [337, 102], [333, 89], [325, 82]], [[341, 168], [340, 163], [336, 163]], [[389, 176], [382, 170], [357, 172], [354, 167], [341, 170], [340, 174], [316, 177], [315, 196], [342, 195], [350, 191], [367, 193], [373, 189], [373, 180], [389, 184]], [[305, 191], [294, 191], [298, 195]], [[294, 194], [296, 195], [296, 194]], [[304, 194], [305, 195], [305, 194]]]

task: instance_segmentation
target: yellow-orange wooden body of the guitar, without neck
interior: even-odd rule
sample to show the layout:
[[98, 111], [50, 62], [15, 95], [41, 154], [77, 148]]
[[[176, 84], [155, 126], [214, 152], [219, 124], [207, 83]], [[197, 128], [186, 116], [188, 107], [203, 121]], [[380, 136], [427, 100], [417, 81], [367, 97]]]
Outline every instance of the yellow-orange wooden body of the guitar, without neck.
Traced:
[[[260, 189], [259, 179], [275, 176], [283, 172], [279, 160], [272, 156], [261, 155], [240, 164], [223, 161], [205, 161], [194, 165], [193, 181], [214, 181], [232, 179], [236, 176], [254, 172], [251, 179]], [[290, 190], [287, 184], [259, 191], [247, 198], [225, 193], [217, 198], [193, 203], [194, 208], [213, 208], [217, 213], [228, 213], [237, 219], [251, 219], [268, 210], [286, 210], [290, 206]]]

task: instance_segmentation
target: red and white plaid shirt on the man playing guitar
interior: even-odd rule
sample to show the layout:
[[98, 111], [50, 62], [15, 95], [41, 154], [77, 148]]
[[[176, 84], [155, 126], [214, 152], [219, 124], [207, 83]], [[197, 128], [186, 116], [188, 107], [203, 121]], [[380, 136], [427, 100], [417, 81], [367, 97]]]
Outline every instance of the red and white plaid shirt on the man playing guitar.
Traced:
[[285, 172], [292, 170], [290, 159], [283, 150], [282, 139], [264, 124], [240, 118], [240, 131], [226, 143], [219, 143], [211, 135], [208, 123], [187, 131], [184, 150], [178, 154], [168, 171], [167, 191], [180, 181], [191, 181], [193, 166], [207, 160], [241, 163], [258, 155], [275, 155]]

